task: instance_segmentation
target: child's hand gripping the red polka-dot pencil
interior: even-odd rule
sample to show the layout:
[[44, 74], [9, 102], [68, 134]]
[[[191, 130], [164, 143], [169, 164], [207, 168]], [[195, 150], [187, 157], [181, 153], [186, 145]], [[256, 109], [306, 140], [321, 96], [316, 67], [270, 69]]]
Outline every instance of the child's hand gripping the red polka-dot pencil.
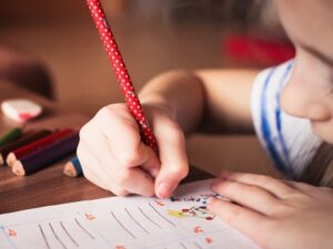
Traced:
[[[142, 143], [125, 104], [102, 108], [80, 132], [78, 156], [84, 176], [115, 195], [172, 195], [188, 175], [184, 135], [162, 106], [145, 106], [159, 156]], [[155, 179], [154, 179], [155, 177]]]

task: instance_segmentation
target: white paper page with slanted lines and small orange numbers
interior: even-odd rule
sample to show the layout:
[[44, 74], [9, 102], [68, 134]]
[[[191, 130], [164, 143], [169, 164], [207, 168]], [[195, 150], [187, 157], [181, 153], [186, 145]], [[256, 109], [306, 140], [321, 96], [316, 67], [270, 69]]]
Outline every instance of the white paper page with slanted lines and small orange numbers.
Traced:
[[110, 197], [0, 216], [4, 249], [258, 248], [205, 209], [210, 180], [173, 198]]

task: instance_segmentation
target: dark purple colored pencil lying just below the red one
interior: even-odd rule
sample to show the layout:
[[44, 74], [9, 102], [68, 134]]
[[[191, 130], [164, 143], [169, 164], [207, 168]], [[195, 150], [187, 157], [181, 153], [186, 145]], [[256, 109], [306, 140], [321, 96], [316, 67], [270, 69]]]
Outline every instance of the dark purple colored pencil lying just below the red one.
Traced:
[[19, 160], [12, 166], [12, 173], [27, 176], [73, 153], [79, 144], [79, 134], [71, 134], [62, 141], [49, 144]]

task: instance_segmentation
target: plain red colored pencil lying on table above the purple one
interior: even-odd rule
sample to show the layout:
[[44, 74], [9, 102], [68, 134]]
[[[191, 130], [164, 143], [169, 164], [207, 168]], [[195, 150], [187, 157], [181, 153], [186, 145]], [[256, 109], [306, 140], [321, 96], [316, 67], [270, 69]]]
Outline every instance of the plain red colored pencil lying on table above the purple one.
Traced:
[[59, 132], [52, 133], [49, 136], [46, 136], [41, 139], [38, 139], [33, 143], [30, 143], [21, 148], [18, 148], [7, 156], [7, 164], [9, 166], [12, 166], [16, 160], [21, 159], [22, 157], [26, 157], [30, 155], [31, 153], [38, 152], [42, 148], [44, 148], [47, 145], [54, 144], [59, 141], [62, 141], [67, 138], [68, 136], [71, 136], [72, 134], [77, 134], [74, 129], [67, 128], [61, 129]]

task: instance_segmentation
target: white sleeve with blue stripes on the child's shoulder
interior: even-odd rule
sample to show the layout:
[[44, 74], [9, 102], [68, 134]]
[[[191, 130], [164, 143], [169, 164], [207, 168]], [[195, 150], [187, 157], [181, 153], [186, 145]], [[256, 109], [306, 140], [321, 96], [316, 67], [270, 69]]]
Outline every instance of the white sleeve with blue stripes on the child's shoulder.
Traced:
[[262, 71], [251, 93], [255, 132], [279, 170], [299, 178], [322, 141], [313, 134], [309, 120], [287, 115], [280, 96], [293, 70], [293, 60]]

